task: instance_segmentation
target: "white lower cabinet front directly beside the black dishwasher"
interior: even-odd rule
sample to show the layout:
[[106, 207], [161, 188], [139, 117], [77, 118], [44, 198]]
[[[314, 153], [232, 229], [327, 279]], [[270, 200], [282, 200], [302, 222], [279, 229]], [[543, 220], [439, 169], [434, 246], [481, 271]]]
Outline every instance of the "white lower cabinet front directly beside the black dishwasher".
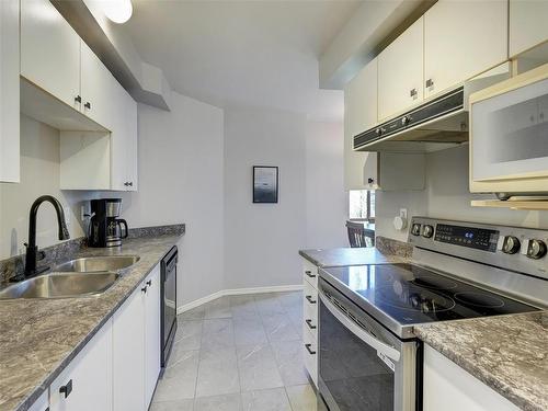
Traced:
[[114, 411], [147, 410], [160, 373], [160, 266], [113, 318]]

